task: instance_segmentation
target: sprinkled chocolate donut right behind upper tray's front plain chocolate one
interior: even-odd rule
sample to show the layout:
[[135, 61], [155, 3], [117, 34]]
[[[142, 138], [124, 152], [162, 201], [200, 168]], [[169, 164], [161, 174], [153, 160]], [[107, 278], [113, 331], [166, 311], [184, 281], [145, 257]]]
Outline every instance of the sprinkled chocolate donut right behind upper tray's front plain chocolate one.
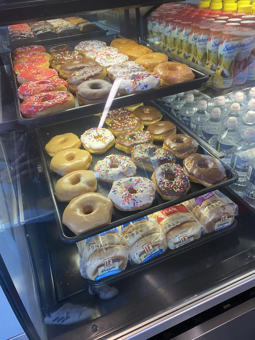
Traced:
[[86, 67], [81, 70], [74, 71], [67, 79], [67, 84], [71, 92], [76, 92], [78, 85], [84, 81], [89, 81], [92, 79], [105, 80], [105, 78], [106, 71], [101, 66]]

